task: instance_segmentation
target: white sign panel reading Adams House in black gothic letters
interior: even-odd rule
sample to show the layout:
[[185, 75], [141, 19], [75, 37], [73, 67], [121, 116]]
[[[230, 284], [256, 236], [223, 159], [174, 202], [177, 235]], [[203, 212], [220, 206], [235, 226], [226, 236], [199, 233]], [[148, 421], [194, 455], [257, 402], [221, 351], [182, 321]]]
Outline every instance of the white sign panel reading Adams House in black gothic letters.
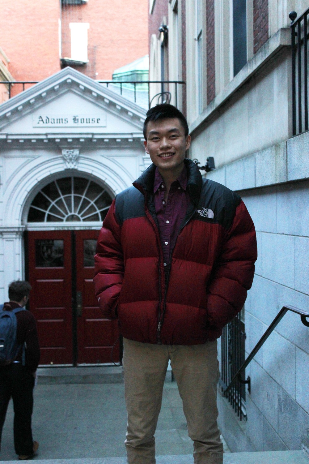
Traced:
[[106, 113], [51, 115], [37, 113], [32, 115], [32, 127], [106, 127]]

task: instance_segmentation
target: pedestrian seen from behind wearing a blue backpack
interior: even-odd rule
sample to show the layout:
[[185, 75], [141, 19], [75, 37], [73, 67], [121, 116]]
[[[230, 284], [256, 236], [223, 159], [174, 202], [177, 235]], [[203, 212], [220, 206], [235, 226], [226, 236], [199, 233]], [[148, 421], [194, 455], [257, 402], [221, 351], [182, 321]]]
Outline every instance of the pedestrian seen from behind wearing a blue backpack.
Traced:
[[40, 360], [37, 324], [25, 309], [31, 285], [15, 281], [9, 285], [9, 302], [0, 311], [0, 440], [10, 398], [14, 406], [14, 445], [20, 460], [38, 451], [33, 441], [31, 418], [33, 387]]

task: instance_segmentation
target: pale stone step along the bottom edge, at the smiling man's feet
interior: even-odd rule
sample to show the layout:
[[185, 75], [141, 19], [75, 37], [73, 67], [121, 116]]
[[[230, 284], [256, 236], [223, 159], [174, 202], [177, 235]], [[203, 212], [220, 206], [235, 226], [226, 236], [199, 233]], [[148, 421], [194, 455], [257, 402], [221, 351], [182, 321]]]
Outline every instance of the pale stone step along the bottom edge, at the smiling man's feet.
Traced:
[[[157, 464], [191, 464], [192, 454], [157, 456]], [[20, 461], [10, 461], [11, 464]], [[83, 459], [35, 459], [36, 464], [126, 464], [126, 458], [83, 458]], [[0, 461], [6, 464], [7, 461]], [[223, 464], [309, 464], [303, 451], [261, 451], [250, 453], [226, 453]]]

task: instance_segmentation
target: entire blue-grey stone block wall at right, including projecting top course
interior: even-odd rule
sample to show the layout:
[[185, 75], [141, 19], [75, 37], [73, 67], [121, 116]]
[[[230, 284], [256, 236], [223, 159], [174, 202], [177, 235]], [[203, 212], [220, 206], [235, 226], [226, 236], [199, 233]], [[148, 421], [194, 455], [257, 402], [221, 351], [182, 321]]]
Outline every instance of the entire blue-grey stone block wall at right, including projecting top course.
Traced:
[[[208, 174], [240, 193], [257, 231], [259, 256], [245, 303], [246, 357], [284, 305], [309, 311], [308, 149], [304, 133]], [[239, 421], [229, 428], [226, 417], [233, 419], [233, 411], [219, 397], [225, 416], [220, 424], [231, 450], [308, 451], [309, 328], [300, 316], [284, 316], [247, 375], [248, 419], [237, 433]]]

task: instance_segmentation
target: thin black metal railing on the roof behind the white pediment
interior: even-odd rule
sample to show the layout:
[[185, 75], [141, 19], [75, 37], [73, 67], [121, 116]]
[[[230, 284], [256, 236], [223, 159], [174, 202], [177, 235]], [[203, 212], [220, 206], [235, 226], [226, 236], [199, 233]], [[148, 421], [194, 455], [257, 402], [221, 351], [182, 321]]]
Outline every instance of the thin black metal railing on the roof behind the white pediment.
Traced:
[[[182, 95], [183, 81], [96, 81], [107, 88], [126, 97], [128, 100], [139, 104], [145, 109], [150, 108], [153, 103], [173, 103], [179, 106], [179, 96]], [[8, 97], [12, 97], [13, 86], [19, 90], [25, 90], [25, 85], [38, 84], [38, 81], [0, 81], [8, 88]], [[181, 86], [181, 88], [179, 87]], [[159, 90], [159, 91], [158, 91]], [[17, 92], [19, 93], [19, 91]]]

